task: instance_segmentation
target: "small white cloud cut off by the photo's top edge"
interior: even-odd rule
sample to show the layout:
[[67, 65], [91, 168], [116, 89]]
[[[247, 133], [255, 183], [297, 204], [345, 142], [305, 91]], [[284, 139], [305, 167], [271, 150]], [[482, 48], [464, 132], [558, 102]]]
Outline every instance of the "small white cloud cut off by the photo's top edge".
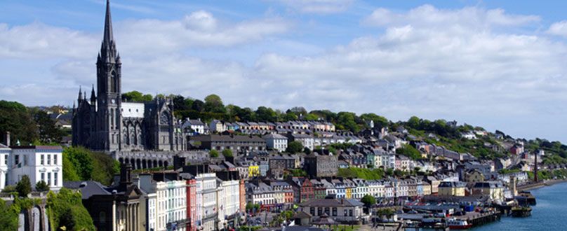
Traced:
[[354, 0], [277, 0], [302, 13], [339, 13], [351, 6]]

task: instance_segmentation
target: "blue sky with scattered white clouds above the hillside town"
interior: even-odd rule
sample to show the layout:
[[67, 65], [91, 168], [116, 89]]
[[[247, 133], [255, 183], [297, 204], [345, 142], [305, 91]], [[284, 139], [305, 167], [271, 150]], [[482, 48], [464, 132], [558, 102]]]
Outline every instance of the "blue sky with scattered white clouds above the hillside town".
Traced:
[[[112, 0], [122, 91], [567, 142], [567, 1]], [[72, 106], [102, 0], [0, 3], [0, 99]]]

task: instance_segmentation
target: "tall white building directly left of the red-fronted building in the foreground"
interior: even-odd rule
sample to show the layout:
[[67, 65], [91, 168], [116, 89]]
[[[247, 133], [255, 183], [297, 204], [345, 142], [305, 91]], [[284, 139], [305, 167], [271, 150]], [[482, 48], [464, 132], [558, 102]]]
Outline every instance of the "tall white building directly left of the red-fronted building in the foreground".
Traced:
[[183, 180], [140, 174], [139, 187], [156, 195], [155, 230], [185, 230], [187, 218], [187, 184]]

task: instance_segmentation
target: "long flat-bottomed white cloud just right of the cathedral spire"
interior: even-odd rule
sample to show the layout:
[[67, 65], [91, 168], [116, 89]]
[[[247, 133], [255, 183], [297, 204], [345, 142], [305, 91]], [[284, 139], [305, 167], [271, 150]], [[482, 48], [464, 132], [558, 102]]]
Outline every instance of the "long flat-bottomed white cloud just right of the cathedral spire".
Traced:
[[290, 27], [280, 18], [220, 23], [211, 13], [201, 10], [182, 20], [128, 20], [114, 27], [114, 34], [124, 52], [154, 54], [253, 43], [284, 34]]

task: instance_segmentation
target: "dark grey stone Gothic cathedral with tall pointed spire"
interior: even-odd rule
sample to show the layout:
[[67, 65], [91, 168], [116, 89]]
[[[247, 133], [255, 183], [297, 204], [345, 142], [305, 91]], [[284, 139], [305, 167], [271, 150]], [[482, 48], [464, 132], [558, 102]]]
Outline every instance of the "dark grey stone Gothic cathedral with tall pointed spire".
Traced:
[[124, 102], [121, 62], [112, 35], [107, 1], [105, 31], [96, 62], [96, 92], [91, 97], [79, 88], [73, 106], [73, 146], [95, 151], [181, 151], [184, 139], [173, 116], [172, 99]]

